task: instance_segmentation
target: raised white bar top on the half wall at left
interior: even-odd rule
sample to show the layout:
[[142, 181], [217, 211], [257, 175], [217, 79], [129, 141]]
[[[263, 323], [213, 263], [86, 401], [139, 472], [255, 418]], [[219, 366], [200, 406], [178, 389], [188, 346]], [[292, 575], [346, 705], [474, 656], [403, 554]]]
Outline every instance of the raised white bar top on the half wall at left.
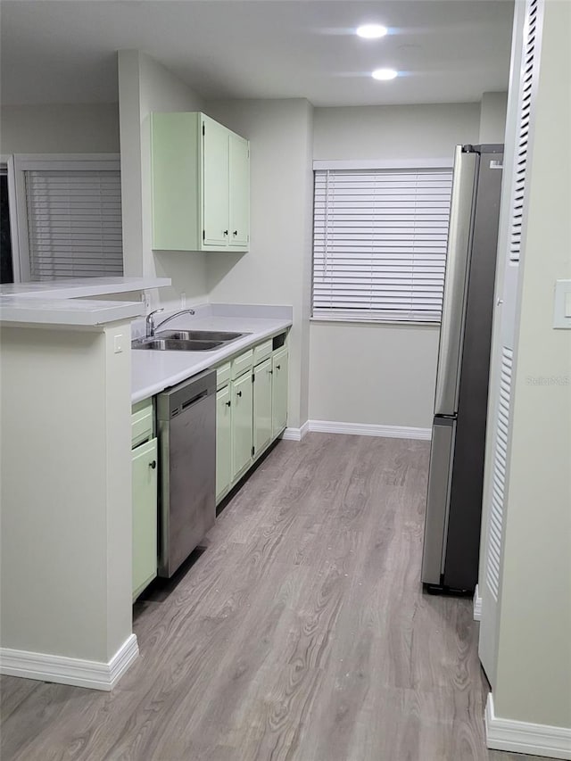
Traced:
[[[125, 294], [170, 285], [169, 277], [78, 277], [0, 285], [0, 321], [8, 325], [95, 327], [145, 313], [142, 302], [100, 301], [90, 296]], [[85, 298], [87, 297], [87, 298]]]

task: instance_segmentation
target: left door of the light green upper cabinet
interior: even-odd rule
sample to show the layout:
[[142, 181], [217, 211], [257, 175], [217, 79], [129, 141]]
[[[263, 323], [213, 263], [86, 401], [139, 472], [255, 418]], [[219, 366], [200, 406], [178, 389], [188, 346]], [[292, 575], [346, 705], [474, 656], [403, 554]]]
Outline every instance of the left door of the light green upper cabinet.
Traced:
[[203, 245], [228, 246], [228, 129], [203, 116]]

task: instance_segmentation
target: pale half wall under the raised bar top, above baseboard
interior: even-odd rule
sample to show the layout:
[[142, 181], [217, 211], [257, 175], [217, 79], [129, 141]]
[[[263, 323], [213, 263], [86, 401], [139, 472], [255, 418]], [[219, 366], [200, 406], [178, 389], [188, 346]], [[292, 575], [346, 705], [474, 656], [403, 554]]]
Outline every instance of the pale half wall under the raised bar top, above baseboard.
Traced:
[[2, 329], [3, 648], [106, 664], [131, 635], [129, 332]]

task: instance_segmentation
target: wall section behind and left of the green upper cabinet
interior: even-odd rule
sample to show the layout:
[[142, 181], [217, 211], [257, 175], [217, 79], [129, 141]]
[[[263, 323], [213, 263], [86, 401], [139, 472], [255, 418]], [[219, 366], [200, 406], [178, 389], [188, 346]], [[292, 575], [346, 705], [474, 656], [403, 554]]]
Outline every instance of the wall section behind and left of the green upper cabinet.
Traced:
[[207, 300], [206, 256], [201, 252], [153, 252], [151, 218], [150, 114], [203, 111], [203, 100], [148, 55], [119, 53], [123, 252], [125, 275], [172, 278], [172, 287], [153, 292], [152, 306], [177, 309]]

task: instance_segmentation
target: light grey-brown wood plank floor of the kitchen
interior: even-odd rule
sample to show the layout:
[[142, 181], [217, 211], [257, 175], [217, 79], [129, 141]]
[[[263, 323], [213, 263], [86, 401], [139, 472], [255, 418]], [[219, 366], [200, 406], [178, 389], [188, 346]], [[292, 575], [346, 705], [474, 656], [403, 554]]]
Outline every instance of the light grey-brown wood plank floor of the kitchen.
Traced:
[[523, 761], [484, 747], [471, 601], [419, 583], [428, 455], [279, 443], [137, 602], [112, 693], [2, 678], [3, 761]]

